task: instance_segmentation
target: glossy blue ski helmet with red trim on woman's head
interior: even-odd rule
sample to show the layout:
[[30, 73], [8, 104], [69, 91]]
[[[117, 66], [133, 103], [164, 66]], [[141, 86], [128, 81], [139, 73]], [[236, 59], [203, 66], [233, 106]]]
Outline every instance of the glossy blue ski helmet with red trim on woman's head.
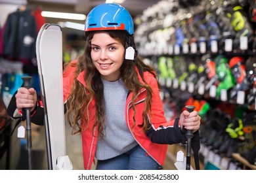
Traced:
[[126, 30], [133, 35], [133, 18], [121, 5], [105, 3], [93, 8], [85, 20], [85, 35], [87, 31]]

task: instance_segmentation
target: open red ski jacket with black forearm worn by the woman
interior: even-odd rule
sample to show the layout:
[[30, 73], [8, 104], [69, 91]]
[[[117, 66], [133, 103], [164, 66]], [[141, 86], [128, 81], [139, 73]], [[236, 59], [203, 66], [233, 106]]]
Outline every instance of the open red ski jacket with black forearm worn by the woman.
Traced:
[[[72, 82], [74, 80], [74, 72], [75, 67], [66, 68], [64, 72], [64, 100], [68, 99], [68, 95], [71, 90]], [[84, 78], [85, 73], [80, 73], [77, 77], [77, 80], [87, 87], [85, 84]], [[139, 74], [138, 74], [139, 75]], [[167, 144], [179, 143], [182, 139], [181, 129], [179, 128], [178, 121], [176, 122], [167, 122], [164, 116], [163, 111], [163, 104], [160, 98], [159, 88], [157, 84], [156, 78], [149, 73], [144, 72], [144, 78], [148, 84], [152, 87], [153, 91], [153, 101], [152, 101], [152, 116], [148, 119], [150, 124], [152, 125], [151, 130], [148, 133], [145, 133], [144, 130], [141, 128], [143, 120], [142, 120], [142, 112], [144, 109], [144, 100], [146, 97], [146, 90], [142, 89], [137, 95], [136, 98], [136, 105], [135, 108], [137, 110], [135, 119], [136, 125], [134, 125], [133, 121], [133, 114], [134, 111], [131, 108], [131, 98], [133, 93], [129, 93], [126, 105], [125, 105], [125, 119], [126, 124], [131, 134], [138, 142], [138, 144], [146, 151], [146, 153], [155, 159], [160, 165], [163, 165], [165, 161], [165, 156], [167, 154]], [[142, 78], [139, 80], [142, 82]], [[91, 112], [89, 116], [89, 126], [83, 133], [81, 134], [82, 144], [83, 144], [83, 163], [85, 169], [91, 169], [91, 165], [93, 160], [95, 159], [95, 150], [96, 150], [96, 143], [98, 137], [98, 130], [97, 127], [93, 127], [95, 124], [95, 100], [89, 105], [89, 111]], [[85, 114], [87, 115], [87, 114]], [[133, 129], [132, 129], [133, 127]], [[168, 129], [168, 130], [164, 130]], [[159, 132], [159, 133], [158, 133]], [[156, 141], [156, 142], [152, 142]]]

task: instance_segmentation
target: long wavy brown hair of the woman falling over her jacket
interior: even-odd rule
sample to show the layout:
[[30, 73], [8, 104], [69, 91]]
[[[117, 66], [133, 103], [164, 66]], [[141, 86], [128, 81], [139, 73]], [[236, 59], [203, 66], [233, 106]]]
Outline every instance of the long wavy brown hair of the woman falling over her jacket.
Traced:
[[[133, 46], [136, 50], [135, 42], [133, 40], [133, 36], [128, 35], [125, 31], [105, 31], [110, 35], [110, 37], [116, 39], [121, 42], [125, 48], [128, 46]], [[77, 58], [77, 69], [75, 73], [75, 79], [72, 84], [72, 90], [67, 102], [67, 115], [68, 115], [68, 123], [72, 127], [72, 134], [82, 133], [87, 128], [89, 122], [89, 105], [95, 99], [95, 108], [96, 115], [94, 126], [98, 127], [98, 133], [102, 137], [104, 135], [104, 99], [103, 99], [103, 84], [100, 79], [100, 73], [96, 70], [93, 65], [93, 61], [91, 59], [91, 39], [93, 39], [93, 35], [95, 32], [91, 32], [87, 35], [85, 41], [85, 50], [84, 54]], [[139, 81], [139, 76], [136, 71], [138, 69], [140, 76], [144, 83]], [[79, 73], [85, 71], [85, 83], [87, 88], [85, 88], [80, 82], [76, 80]], [[144, 125], [143, 129], [147, 127], [147, 119], [148, 112], [151, 113], [151, 105], [152, 105], [152, 88], [145, 82], [143, 73], [145, 71], [149, 71], [156, 77], [156, 73], [154, 69], [143, 63], [142, 59], [137, 56], [134, 61], [125, 60], [123, 61], [123, 65], [121, 65], [121, 75], [120, 78], [123, 80], [123, 84], [129, 90], [129, 92], [133, 92], [132, 96], [132, 108], [135, 111], [133, 120], [135, 121], [135, 97], [139, 93], [140, 89], [146, 89], [146, 99], [144, 101], [145, 107], [142, 114]], [[135, 121], [136, 124], [136, 121]]]

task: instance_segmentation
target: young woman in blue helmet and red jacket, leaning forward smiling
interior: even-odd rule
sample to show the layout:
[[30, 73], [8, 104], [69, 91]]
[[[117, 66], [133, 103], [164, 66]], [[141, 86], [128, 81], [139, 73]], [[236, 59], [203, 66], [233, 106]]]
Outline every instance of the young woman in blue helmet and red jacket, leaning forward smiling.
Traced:
[[[196, 111], [166, 121], [156, 73], [137, 56], [133, 33], [125, 8], [98, 5], [85, 21], [84, 54], [64, 70], [68, 123], [81, 134], [85, 169], [93, 162], [96, 169], [159, 169], [167, 144], [181, 142], [182, 129], [200, 128]], [[39, 123], [36, 96], [22, 87], [11, 105], [32, 107], [32, 121]]]

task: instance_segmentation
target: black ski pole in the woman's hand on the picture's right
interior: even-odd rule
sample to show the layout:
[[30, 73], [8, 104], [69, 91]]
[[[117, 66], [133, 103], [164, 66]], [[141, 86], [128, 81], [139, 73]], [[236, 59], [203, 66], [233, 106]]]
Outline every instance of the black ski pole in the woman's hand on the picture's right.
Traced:
[[[188, 110], [188, 112], [192, 112], [194, 110], [193, 105], [186, 105], [186, 110]], [[190, 170], [190, 161], [191, 161], [191, 140], [193, 135], [193, 131], [191, 129], [187, 129], [186, 130], [186, 139], [187, 139], [187, 144], [186, 144], [186, 170]]]

